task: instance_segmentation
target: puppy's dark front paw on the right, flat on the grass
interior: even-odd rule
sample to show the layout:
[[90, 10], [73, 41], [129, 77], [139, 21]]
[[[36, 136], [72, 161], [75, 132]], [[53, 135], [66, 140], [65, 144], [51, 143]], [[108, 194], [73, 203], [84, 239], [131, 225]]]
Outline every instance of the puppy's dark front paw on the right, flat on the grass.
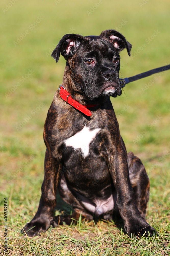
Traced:
[[124, 226], [126, 232], [128, 233], [128, 235], [130, 236], [131, 234], [135, 234], [138, 237], [142, 237], [143, 235], [145, 237], [147, 237], [149, 234], [150, 236], [155, 236], [156, 234], [158, 234], [158, 232], [156, 232], [156, 230], [151, 227], [146, 221], [143, 220], [143, 222], [132, 222], [130, 225], [125, 225]]

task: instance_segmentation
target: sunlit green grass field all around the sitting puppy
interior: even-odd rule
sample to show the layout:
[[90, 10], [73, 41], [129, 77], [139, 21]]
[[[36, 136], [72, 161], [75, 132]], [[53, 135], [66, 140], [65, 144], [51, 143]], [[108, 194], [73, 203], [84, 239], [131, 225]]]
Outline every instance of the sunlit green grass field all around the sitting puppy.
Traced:
[[[120, 77], [169, 64], [169, 0], [149, 0], [140, 7], [142, 2], [103, 0], [89, 16], [95, 1], [17, 1], [7, 11], [3, 9], [11, 2], [0, 3], [0, 200], [4, 220], [8, 198], [9, 221], [8, 252], [2, 255], [170, 255], [170, 71], [155, 75], [155, 81], [151, 76], [130, 83], [121, 97], [112, 99], [127, 150], [141, 158], [149, 175], [146, 219], [159, 236], [129, 238], [123, 223], [102, 220], [49, 229], [36, 238], [20, 236], [21, 227], [37, 211], [44, 176], [43, 126], [62, 83], [65, 60], [61, 57], [56, 65], [52, 50], [64, 34], [99, 35], [119, 27], [133, 46], [131, 58], [126, 50], [121, 53]], [[31, 30], [37, 17], [42, 20]], [[29, 33], [14, 45], [26, 30]], [[155, 30], [160, 33], [153, 38]], [[57, 210], [62, 214], [65, 208], [58, 199]], [[3, 247], [3, 228], [0, 235]]]

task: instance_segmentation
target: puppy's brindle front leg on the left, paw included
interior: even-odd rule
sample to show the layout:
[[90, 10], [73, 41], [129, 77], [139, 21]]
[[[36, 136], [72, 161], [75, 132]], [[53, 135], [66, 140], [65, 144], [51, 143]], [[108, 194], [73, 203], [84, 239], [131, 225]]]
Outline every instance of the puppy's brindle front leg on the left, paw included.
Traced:
[[[34, 218], [24, 227], [24, 231], [28, 236], [36, 236], [39, 232], [45, 232], [50, 227], [56, 205], [56, 193], [60, 182], [61, 168], [61, 163], [52, 158], [50, 152], [46, 150], [45, 174], [41, 187], [40, 204]], [[24, 231], [22, 230], [21, 232], [24, 233]]]

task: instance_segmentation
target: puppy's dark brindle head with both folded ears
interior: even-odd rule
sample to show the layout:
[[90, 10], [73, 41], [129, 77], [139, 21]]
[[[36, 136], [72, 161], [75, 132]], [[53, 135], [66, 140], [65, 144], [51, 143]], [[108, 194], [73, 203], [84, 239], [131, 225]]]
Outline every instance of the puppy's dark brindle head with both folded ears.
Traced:
[[67, 75], [76, 87], [76, 92], [86, 100], [121, 95], [119, 81], [119, 52], [127, 49], [130, 56], [132, 45], [115, 30], [105, 30], [100, 36], [63, 36], [52, 52], [58, 62], [60, 53], [67, 60]]

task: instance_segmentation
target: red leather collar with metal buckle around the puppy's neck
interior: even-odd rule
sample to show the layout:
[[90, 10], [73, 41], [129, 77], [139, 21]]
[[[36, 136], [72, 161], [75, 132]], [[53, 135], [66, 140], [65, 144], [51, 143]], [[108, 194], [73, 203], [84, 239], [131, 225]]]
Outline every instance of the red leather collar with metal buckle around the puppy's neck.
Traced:
[[81, 111], [83, 114], [87, 115], [87, 116], [91, 116], [91, 111], [87, 108], [92, 108], [95, 107], [97, 105], [81, 105], [78, 101], [73, 100], [70, 96], [70, 94], [66, 91], [66, 89], [64, 88], [64, 86], [62, 84], [60, 84], [60, 87], [58, 88], [59, 92], [60, 92], [60, 97], [66, 101], [67, 104], [70, 104], [71, 106], [73, 106], [74, 108], [78, 109], [79, 111]]

